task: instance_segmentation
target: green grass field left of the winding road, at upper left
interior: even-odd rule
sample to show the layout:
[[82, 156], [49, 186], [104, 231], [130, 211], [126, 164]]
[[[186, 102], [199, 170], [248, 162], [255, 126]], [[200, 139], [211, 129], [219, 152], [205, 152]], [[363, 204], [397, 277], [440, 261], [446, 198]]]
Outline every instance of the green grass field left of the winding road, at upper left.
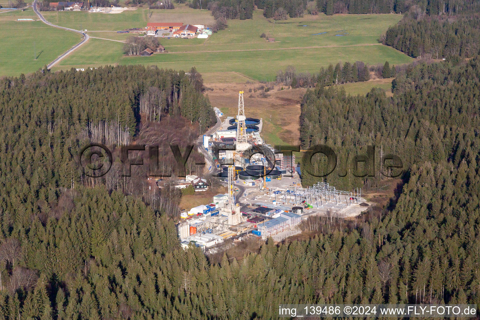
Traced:
[[76, 33], [41, 21], [17, 21], [21, 18], [36, 15], [31, 8], [0, 14], [0, 76], [36, 71], [81, 40]]

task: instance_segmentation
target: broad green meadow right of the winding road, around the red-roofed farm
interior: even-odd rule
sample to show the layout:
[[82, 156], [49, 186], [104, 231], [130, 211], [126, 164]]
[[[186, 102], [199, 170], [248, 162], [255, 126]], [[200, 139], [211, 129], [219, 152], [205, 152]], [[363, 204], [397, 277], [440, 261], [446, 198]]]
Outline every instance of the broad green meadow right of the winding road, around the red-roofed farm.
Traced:
[[[179, 8], [175, 10], [147, 10], [122, 12], [120, 14], [94, 14], [88, 12], [48, 12], [47, 19], [60, 25], [88, 30], [120, 30], [144, 26], [149, 12], [150, 21], [183, 20], [204, 16], [207, 11]], [[170, 18], [168, 18], [170, 16]], [[189, 18], [192, 16], [192, 18]], [[91, 39], [71, 56], [62, 60], [54, 70], [107, 64], [145, 64], [160, 68], [198, 71], [210, 74], [236, 72], [259, 81], [272, 81], [279, 69], [293, 65], [297, 71], [316, 72], [320, 67], [339, 61], [363, 61], [377, 64], [410, 62], [403, 53], [378, 44], [378, 37], [387, 27], [396, 24], [401, 16], [380, 15], [305, 15], [273, 23], [264, 18], [261, 10], [254, 12], [252, 20], [231, 20], [228, 28], [208, 39], [160, 39], [168, 53], [151, 57], [125, 57], [123, 44], [100, 39]], [[189, 21], [182, 21], [187, 23]], [[141, 25], [139, 25], [141, 24]], [[275, 37], [275, 43], [266, 43], [262, 33]], [[315, 35], [323, 33], [321, 35]], [[91, 36], [123, 41], [130, 35], [109, 32], [89, 33]], [[337, 36], [342, 35], [342, 36]], [[87, 62], [87, 63], [85, 63]], [[225, 80], [219, 77], [219, 82]], [[211, 79], [214, 82], [214, 79]]]

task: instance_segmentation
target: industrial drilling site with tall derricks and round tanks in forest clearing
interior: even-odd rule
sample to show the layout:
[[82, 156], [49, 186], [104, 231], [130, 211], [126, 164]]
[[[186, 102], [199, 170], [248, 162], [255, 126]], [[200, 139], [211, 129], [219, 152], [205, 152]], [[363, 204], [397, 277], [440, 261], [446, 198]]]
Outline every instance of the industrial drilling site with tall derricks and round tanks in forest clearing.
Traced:
[[184, 248], [195, 245], [213, 253], [232, 237], [280, 241], [300, 233], [298, 225], [309, 215], [348, 217], [366, 210], [361, 190], [336, 190], [325, 182], [302, 188], [295, 156], [264, 143], [261, 128], [262, 119], [245, 117], [240, 91], [236, 118], [203, 136], [204, 155], [228, 191], [181, 214], [177, 228]]

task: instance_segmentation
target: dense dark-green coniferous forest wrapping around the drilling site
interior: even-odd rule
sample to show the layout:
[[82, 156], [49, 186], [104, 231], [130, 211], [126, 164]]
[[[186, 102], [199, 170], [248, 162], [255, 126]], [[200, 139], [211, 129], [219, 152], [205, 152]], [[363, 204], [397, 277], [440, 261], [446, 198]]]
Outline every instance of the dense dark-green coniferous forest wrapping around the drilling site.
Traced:
[[[179, 249], [162, 210], [71, 171], [85, 123], [135, 130], [145, 88], [177, 100], [195, 90], [180, 74], [108, 67], [2, 81], [2, 319], [270, 319], [283, 302], [480, 302], [479, 58], [412, 67], [393, 99], [309, 91], [304, 146], [384, 143], [407, 164], [398, 201], [365, 222], [220, 263]], [[174, 100], [165, 117], [188, 118], [182, 106], [196, 104]]]

